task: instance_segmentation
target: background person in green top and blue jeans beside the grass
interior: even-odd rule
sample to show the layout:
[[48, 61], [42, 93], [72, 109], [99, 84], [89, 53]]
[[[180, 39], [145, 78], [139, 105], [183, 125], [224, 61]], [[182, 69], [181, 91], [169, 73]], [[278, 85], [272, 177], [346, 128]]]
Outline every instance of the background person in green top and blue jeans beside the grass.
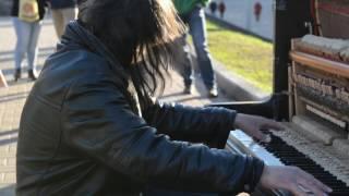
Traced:
[[[203, 82], [208, 90], [209, 97], [217, 97], [217, 82], [213, 69], [210, 54], [207, 48], [207, 33], [204, 8], [209, 0], [173, 0], [173, 4], [181, 20], [188, 25], [189, 32], [193, 38], [194, 48], [197, 54], [197, 63]], [[183, 35], [183, 50], [185, 60], [180, 74], [184, 81], [184, 94], [191, 94], [193, 74], [190, 47], [186, 42], [188, 33]]]

